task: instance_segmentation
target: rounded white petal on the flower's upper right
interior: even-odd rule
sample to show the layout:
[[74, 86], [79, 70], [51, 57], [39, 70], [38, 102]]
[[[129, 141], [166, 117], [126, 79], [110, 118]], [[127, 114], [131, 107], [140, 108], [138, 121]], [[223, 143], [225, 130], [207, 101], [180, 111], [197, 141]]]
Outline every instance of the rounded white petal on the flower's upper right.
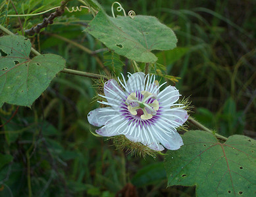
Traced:
[[174, 102], [178, 100], [180, 94], [176, 87], [168, 86], [166, 87], [159, 95], [157, 95], [157, 99], [159, 100], [160, 106], [171, 106]]

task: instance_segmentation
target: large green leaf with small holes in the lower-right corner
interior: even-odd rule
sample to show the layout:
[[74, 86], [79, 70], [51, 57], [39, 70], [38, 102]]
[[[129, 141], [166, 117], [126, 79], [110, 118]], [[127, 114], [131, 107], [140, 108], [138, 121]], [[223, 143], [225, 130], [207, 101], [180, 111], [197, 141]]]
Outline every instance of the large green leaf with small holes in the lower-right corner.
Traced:
[[184, 146], [168, 151], [168, 186], [196, 186], [197, 196], [256, 196], [256, 141], [232, 135], [220, 143], [205, 131], [188, 131]]

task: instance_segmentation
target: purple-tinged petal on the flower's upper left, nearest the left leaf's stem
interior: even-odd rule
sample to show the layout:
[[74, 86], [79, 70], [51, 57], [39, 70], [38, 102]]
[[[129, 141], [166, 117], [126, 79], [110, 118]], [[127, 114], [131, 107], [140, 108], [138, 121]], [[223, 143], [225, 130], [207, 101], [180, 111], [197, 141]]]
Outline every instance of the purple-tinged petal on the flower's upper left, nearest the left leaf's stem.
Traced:
[[[113, 100], [122, 101], [125, 97], [124, 91], [115, 79], [109, 79], [109, 81], [105, 83], [104, 94], [107, 97], [108, 102], [113, 102]], [[108, 99], [108, 97], [111, 99]]]

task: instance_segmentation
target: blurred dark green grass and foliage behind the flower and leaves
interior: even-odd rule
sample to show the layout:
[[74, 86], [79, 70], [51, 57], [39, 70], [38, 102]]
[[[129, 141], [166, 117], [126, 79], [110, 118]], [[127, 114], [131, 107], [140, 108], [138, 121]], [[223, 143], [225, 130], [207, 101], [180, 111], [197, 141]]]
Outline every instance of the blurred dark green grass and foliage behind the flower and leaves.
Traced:
[[[112, 15], [114, 1], [99, 2]], [[45, 11], [60, 3], [13, 0], [18, 14]], [[176, 84], [168, 83], [176, 85], [183, 97], [190, 97], [190, 115], [226, 137], [240, 134], [255, 139], [256, 1], [120, 3], [126, 13], [133, 10], [156, 16], [176, 33], [178, 47], [174, 51], [155, 53], [158, 62], [166, 66], [165, 74], [180, 77]], [[81, 3], [68, 3], [69, 8], [77, 5]], [[2, 0], [0, 9], [0, 23], [22, 34], [18, 18], [5, 17], [7, 11], [15, 14], [11, 2], [6, 5]], [[51, 12], [21, 17], [22, 28], [35, 26]], [[109, 74], [113, 68], [104, 66], [105, 46], [82, 32], [91, 19], [86, 9], [66, 11], [43, 32], [29, 37], [40, 53], [63, 56], [66, 68]], [[121, 60], [124, 65], [117, 61], [121, 66], [115, 72], [134, 72], [129, 60]], [[18, 108], [14, 118], [0, 127], [0, 196], [28, 196], [29, 190], [33, 196], [127, 197], [136, 192], [138, 196], [195, 196], [194, 187], [166, 188], [163, 156], [134, 157], [116, 150], [111, 141], [91, 135], [95, 128], [86, 117], [98, 106], [93, 102], [97, 84], [90, 78], [60, 73], [31, 109]], [[0, 109], [1, 124], [15, 110], [16, 106], [5, 104]]]

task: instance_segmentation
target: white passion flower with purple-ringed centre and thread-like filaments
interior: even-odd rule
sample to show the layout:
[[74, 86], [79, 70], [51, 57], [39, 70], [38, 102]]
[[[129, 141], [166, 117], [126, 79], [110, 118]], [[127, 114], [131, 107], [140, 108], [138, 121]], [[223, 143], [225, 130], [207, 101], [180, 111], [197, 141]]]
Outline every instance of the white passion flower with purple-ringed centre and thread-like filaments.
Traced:
[[[188, 114], [182, 104], [174, 104], [180, 97], [176, 87], [168, 86], [159, 92], [161, 86], [155, 76], [142, 72], [130, 74], [124, 83], [110, 79], [104, 85], [109, 107], [97, 108], [88, 114], [91, 125], [101, 127], [96, 133], [101, 136], [125, 135], [133, 142], [141, 142], [152, 150], [177, 150], [183, 145], [176, 128], [182, 125]], [[165, 148], [163, 147], [165, 146]]]

